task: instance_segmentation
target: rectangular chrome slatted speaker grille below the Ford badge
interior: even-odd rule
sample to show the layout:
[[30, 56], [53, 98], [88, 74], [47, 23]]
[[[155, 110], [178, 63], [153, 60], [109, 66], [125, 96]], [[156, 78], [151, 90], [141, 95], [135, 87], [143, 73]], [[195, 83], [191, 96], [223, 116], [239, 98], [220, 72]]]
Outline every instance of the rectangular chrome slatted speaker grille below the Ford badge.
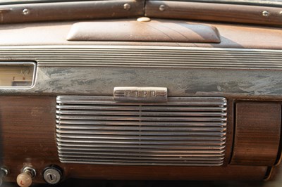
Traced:
[[226, 99], [170, 97], [117, 103], [112, 97], [58, 96], [61, 162], [111, 165], [223, 165]]

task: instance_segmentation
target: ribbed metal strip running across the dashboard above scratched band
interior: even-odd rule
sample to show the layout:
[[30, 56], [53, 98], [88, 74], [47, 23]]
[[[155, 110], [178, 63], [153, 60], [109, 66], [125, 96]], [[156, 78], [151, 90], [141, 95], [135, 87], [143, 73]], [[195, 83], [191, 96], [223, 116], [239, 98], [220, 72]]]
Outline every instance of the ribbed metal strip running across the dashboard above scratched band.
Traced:
[[165, 46], [0, 47], [3, 59], [36, 60], [38, 66], [187, 67], [282, 70], [280, 50]]

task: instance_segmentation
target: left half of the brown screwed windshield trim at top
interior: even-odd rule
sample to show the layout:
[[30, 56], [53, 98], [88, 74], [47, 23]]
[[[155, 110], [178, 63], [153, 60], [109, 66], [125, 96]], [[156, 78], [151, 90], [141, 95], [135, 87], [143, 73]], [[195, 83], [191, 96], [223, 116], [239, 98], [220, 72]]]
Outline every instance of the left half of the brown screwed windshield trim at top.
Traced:
[[[129, 4], [130, 8], [124, 8], [124, 4]], [[143, 7], [144, 1], [135, 0], [4, 5], [0, 6], [0, 23], [128, 18], [144, 15]], [[26, 15], [24, 9], [27, 10]]]

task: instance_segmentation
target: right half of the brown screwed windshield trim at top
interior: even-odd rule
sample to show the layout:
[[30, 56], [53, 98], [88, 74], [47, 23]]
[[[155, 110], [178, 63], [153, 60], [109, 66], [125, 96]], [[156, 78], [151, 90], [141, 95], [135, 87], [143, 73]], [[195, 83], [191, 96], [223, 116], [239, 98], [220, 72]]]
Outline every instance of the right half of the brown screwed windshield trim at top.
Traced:
[[[160, 6], [164, 11], [160, 11]], [[264, 16], [268, 11], [269, 16]], [[183, 1], [146, 1], [145, 14], [150, 18], [243, 22], [281, 25], [281, 8], [234, 4], [211, 4]]]

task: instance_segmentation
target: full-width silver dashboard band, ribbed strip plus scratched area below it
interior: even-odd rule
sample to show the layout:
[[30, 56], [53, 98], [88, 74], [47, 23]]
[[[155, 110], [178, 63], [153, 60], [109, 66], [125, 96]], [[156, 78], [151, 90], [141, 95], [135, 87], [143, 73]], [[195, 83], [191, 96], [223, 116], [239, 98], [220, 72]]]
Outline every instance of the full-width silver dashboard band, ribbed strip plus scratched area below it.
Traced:
[[116, 86], [161, 86], [169, 96], [282, 97], [281, 50], [0, 46], [0, 60], [37, 62], [32, 88], [1, 89], [1, 94], [112, 96]]

